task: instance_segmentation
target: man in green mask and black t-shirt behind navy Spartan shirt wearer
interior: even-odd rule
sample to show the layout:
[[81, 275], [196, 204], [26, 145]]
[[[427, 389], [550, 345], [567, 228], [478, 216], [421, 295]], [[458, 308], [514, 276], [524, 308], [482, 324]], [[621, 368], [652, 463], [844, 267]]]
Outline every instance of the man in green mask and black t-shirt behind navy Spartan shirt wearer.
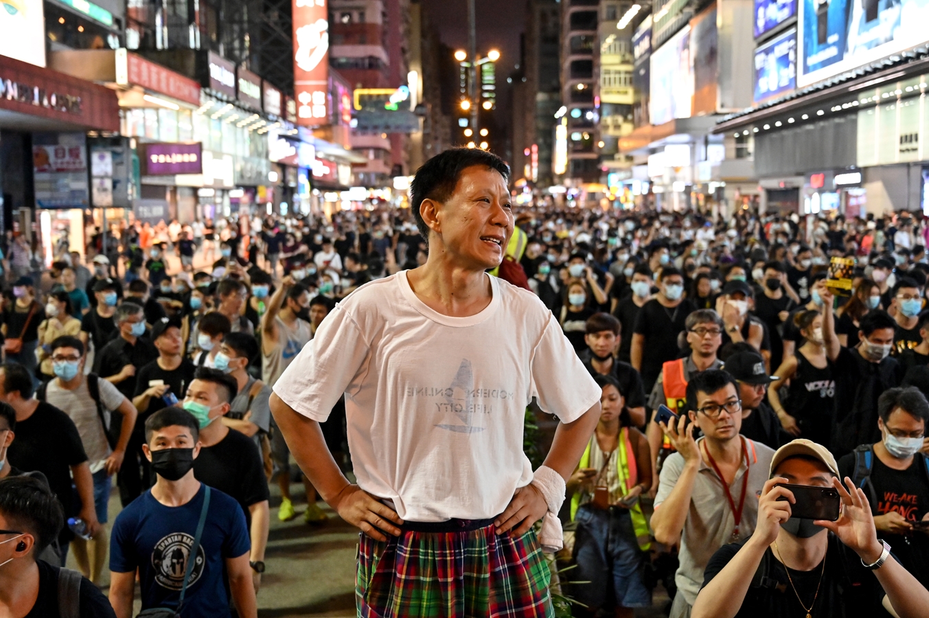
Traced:
[[[193, 462], [197, 480], [215, 487], [242, 506], [249, 524], [252, 551], [249, 561], [255, 570], [255, 590], [264, 571], [268, 546], [268, 479], [255, 442], [216, 419], [229, 412], [238, 394], [235, 378], [216, 369], [201, 367], [187, 389], [184, 409], [200, 422], [200, 455]], [[259, 566], [260, 565], [260, 566]]]

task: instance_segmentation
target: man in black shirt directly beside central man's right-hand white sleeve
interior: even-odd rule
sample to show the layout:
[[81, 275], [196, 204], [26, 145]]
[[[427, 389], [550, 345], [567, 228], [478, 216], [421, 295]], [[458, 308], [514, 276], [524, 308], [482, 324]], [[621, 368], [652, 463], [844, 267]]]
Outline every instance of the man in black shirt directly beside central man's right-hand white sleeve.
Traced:
[[645, 389], [642, 378], [628, 362], [617, 361], [613, 354], [622, 339], [620, 321], [608, 313], [595, 313], [586, 322], [584, 343], [587, 349], [578, 356], [590, 375], [612, 375], [625, 393], [626, 409], [634, 427], [645, 427]]

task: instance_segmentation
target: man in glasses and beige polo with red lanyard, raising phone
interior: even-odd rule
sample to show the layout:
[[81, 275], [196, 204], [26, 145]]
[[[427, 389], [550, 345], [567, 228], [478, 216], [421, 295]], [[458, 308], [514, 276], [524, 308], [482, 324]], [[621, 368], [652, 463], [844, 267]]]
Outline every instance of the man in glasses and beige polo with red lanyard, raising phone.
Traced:
[[[720, 370], [694, 375], [687, 395], [692, 410], [660, 423], [677, 453], [661, 468], [651, 518], [655, 539], [680, 547], [671, 618], [689, 618], [713, 553], [754, 531], [754, 495], [764, 486], [774, 455], [739, 435], [742, 407], [731, 375]], [[694, 440], [695, 427], [703, 433], [700, 440]]]

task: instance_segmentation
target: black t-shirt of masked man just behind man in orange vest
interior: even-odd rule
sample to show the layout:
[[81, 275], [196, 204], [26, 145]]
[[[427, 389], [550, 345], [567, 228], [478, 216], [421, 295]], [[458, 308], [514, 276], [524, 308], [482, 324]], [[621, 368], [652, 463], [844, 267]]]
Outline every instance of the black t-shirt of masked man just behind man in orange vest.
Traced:
[[663, 363], [680, 358], [681, 348], [677, 345], [677, 335], [684, 331], [687, 316], [694, 310], [693, 303], [687, 299], [674, 309], [669, 309], [656, 298], [649, 300], [639, 310], [634, 332], [636, 335], [645, 335], [642, 381], [647, 389], [655, 384]]

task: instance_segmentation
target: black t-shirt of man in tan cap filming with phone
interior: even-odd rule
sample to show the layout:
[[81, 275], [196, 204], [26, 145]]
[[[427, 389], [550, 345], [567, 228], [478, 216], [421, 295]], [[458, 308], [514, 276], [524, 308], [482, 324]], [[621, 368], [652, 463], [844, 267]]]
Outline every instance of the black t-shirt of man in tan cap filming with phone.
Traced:
[[[861, 559], [854, 551], [844, 546], [831, 533], [827, 534], [830, 536], [829, 549], [825, 558], [825, 571], [823, 571], [822, 563], [819, 563], [812, 571], [791, 569], [790, 580], [788, 580], [784, 565], [774, 557], [771, 548], [765, 549], [765, 557], [759, 569], [764, 572], [766, 565], [766, 577], [773, 581], [767, 586], [755, 584], [753, 581], [742, 600], [739, 612], [736, 613], [736, 618], [805, 616], [806, 610], [800, 605], [798, 595], [804, 599], [805, 603], [810, 603], [813, 598], [816, 598], [809, 612], [816, 618], [886, 616], [887, 613], [881, 607], [883, 588], [877, 581], [877, 577], [861, 565]], [[703, 585], [709, 584], [717, 573], [726, 568], [729, 561], [750, 539], [751, 537], [717, 549], [703, 572]], [[753, 574], [757, 575], [757, 573]], [[819, 588], [818, 594], [817, 587]]]

